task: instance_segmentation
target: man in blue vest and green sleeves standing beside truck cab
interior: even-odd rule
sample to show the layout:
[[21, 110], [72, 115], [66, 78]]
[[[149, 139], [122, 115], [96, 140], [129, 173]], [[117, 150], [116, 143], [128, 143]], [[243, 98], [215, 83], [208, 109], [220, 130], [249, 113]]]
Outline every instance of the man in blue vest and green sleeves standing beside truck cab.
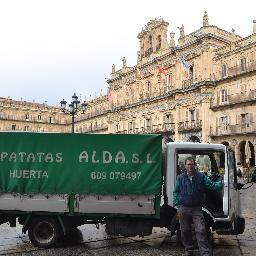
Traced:
[[193, 255], [192, 224], [201, 256], [210, 256], [202, 204], [205, 190], [221, 190], [222, 181], [213, 182], [206, 175], [196, 171], [192, 157], [185, 160], [186, 171], [177, 177], [173, 191], [174, 205], [178, 208], [181, 241], [185, 247], [184, 256]]

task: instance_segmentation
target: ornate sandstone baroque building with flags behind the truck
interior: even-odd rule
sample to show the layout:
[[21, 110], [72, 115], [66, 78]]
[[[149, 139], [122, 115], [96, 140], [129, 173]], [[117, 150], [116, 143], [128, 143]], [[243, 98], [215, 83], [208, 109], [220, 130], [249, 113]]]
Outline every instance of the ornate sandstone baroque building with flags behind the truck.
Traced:
[[[237, 161], [255, 165], [256, 20], [252, 34], [242, 38], [210, 25], [205, 12], [198, 30], [186, 35], [179, 27], [177, 44], [174, 32], [167, 39], [168, 25], [163, 19], [146, 24], [138, 34], [137, 64], [130, 67], [123, 58], [121, 69], [112, 66], [108, 96], [89, 102], [76, 118], [76, 132], [161, 133], [172, 141], [224, 143]], [[0, 102], [4, 130], [26, 124], [32, 131], [71, 129], [70, 117], [58, 108]]]

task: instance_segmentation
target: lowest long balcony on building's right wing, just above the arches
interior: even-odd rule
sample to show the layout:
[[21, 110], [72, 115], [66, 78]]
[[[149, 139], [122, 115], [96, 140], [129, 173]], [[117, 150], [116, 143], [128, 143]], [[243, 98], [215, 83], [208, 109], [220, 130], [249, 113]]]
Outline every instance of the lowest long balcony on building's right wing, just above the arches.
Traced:
[[212, 137], [256, 133], [256, 123], [211, 127]]

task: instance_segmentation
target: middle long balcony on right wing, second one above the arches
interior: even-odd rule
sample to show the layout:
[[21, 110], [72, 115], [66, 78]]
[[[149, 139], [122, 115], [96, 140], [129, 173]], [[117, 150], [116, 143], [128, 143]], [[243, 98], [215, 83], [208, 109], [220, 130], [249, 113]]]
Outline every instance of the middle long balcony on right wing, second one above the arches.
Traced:
[[225, 101], [221, 101], [220, 97], [217, 98], [217, 101], [212, 101], [210, 108], [218, 109], [224, 106], [235, 105], [239, 103], [255, 102], [256, 101], [256, 90], [250, 90], [244, 93], [235, 93], [227, 95]]

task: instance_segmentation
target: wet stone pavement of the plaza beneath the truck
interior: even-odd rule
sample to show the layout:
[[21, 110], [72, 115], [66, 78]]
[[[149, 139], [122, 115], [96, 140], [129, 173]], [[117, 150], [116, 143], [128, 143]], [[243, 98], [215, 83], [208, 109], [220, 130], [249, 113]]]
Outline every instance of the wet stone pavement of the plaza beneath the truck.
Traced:
[[[238, 236], [213, 236], [214, 256], [256, 256], [256, 184], [247, 190], [241, 190], [243, 215], [246, 218], [246, 230]], [[0, 226], [0, 255], [24, 256], [180, 256], [183, 248], [176, 238], [170, 239], [166, 229], [155, 228], [151, 236], [145, 238], [110, 238], [104, 227], [96, 229], [93, 225], [84, 225], [66, 238], [64, 246], [55, 249], [33, 247], [21, 227]], [[196, 255], [200, 255], [196, 252]]]

